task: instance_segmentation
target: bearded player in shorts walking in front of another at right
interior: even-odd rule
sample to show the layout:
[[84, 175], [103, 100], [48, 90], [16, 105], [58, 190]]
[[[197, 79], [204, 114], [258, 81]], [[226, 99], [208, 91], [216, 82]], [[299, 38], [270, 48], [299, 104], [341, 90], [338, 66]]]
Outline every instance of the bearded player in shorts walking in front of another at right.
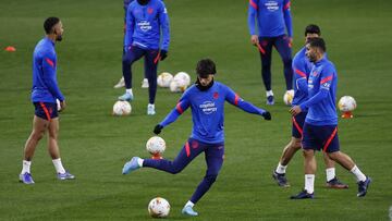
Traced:
[[314, 198], [316, 174], [315, 150], [327, 152], [330, 159], [351, 171], [358, 182], [358, 197], [366, 195], [371, 179], [366, 176], [354, 161], [340, 151], [338, 138], [338, 114], [335, 107], [338, 73], [326, 58], [322, 38], [311, 38], [306, 44], [306, 56], [314, 63], [308, 79], [308, 100], [292, 107], [292, 115], [308, 109], [303, 131], [303, 152], [305, 157], [305, 189], [292, 199]]

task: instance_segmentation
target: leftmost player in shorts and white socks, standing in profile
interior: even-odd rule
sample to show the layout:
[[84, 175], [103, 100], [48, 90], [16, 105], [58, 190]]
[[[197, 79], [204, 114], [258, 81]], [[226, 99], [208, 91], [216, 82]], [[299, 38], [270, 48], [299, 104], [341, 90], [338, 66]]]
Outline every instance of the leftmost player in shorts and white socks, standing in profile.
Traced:
[[57, 171], [57, 177], [61, 181], [75, 179], [65, 171], [61, 163], [58, 135], [59, 113], [56, 99], [60, 100], [61, 109], [65, 109], [65, 98], [57, 83], [57, 54], [56, 41], [62, 40], [63, 25], [58, 17], [48, 17], [44, 23], [46, 37], [34, 49], [33, 54], [33, 88], [32, 101], [35, 107], [33, 132], [29, 135], [25, 148], [23, 168], [20, 181], [25, 184], [34, 184], [30, 165], [34, 151], [38, 142], [48, 132], [48, 150]]

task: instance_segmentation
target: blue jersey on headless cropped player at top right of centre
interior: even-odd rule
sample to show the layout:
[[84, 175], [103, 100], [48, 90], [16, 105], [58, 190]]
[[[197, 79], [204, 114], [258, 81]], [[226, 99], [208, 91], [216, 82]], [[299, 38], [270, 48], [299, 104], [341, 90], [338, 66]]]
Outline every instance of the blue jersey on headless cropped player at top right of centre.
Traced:
[[258, 36], [278, 37], [285, 34], [293, 37], [290, 0], [249, 0], [248, 27], [250, 35], [256, 35], [257, 22]]

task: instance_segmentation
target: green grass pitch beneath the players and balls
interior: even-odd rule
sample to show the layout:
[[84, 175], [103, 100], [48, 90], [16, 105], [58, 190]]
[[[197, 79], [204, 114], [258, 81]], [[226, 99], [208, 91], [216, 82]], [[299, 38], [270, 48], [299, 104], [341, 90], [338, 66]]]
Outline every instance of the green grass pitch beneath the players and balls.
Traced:
[[[169, 58], [160, 71], [185, 71], [195, 79], [197, 60], [212, 58], [217, 79], [243, 98], [265, 107], [257, 50], [249, 45], [247, 1], [166, 0], [171, 19]], [[289, 200], [303, 187], [303, 157], [291, 162], [289, 189], [271, 180], [291, 135], [282, 63], [273, 52], [273, 88], [278, 103], [268, 107], [273, 120], [265, 122], [230, 105], [225, 110], [225, 162], [212, 188], [197, 204], [199, 220], [388, 220], [392, 206], [392, 48], [391, 1], [298, 0], [292, 2], [294, 51], [302, 47], [303, 29], [321, 26], [329, 58], [339, 72], [338, 96], [351, 95], [358, 108], [353, 120], [340, 121], [341, 149], [373, 179], [365, 198], [357, 198], [352, 174], [336, 167], [350, 189], [323, 187], [324, 168], [318, 155], [316, 199]], [[145, 142], [154, 126], [174, 107], [180, 95], [159, 89], [157, 115], [147, 116], [147, 91], [139, 88], [143, 64], [134, 74], [133, 114], [113, 118], [112, 105], [123, 90], [112, 89], [121, 76], [122, 1], [2, 0], [0, 1], [0, 220], [149, 220], [148, 201], [167, 198], [170, 220], [203, 179], [206, 165], [198, 157], [176, 175], [142, 169], [121, 175], [132, 156], [148, 157]], [[33, 186], [17, 183], [23, 147], [32, 128], [29, 102], [32, 53], [42, 37], [47, 16], [62, 19], [64, 40], [57, 45], [58, 79], [68, 109], [61, 113], [60, 148], [63, 163], [76, 180], [59, 182], [46, 140], [35, 154]], [[191, 133], [187, 111], [163, 131], [164, 156], [173, 159]]]

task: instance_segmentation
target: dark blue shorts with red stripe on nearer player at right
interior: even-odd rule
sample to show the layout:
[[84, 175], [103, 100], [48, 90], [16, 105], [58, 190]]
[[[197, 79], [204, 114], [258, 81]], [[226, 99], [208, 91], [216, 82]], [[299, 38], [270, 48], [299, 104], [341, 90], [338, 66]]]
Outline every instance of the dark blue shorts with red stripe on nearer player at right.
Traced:
[[316, 126], [305, 122], [302, 145], [304, 149], [339, 151], [338, 125]]

